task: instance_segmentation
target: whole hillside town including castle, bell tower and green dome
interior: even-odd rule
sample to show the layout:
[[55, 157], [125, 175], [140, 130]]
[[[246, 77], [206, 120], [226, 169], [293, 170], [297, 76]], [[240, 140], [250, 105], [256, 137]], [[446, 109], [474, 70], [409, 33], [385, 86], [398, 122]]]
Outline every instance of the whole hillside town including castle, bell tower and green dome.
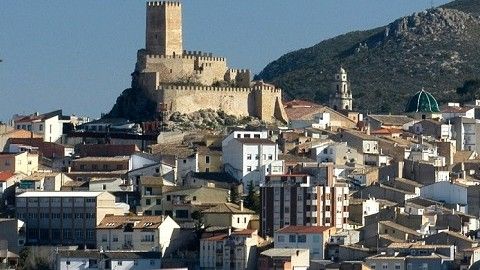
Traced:
[[328, 104], [283, 99], [184, 51], [179, 2], [146, 12], [154, 119], [0, 125], [0, 269], [480, 269], [480, 100], [419, 82], [403, 113], [359, 112], [343, 66]]

